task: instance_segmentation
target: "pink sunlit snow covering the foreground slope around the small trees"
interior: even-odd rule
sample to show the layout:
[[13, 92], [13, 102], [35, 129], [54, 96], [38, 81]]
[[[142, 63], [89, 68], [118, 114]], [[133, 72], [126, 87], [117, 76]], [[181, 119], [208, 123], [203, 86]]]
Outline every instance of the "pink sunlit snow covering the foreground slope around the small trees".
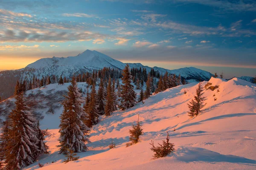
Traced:
[[[128, 110], [113, 112], [109, 117], [101, 116], [100, 122], [91, 129], [89, 151], [78, 153], [80, 159], [67, 164], [62, 163], [64, 156], [58, 154], [56, 147], [58, 116], [62, 112], [59, 108], [40, 122], [41, 128], [49, 128], [49, 132], [55, 134], [46, 139], [50, 154], [25, 170], [38, 169], [38, 162], [44, 164], [41, 170], [255, 170], [256, 86], [238, 78], [226, 81], [212, 77], [209, 82], [219, 88], [204, 91], [207, 105], [195, 118], [187, 116], [187, 103], [195, 94], [196, 82], [167, 89], [146, 99], [144, 104], [140, 102]], [[206, 81], [202, 83], [206, 84]], [[128, 130], [138, 114], [144, 134], [139, 143], [125, 147], [129, 141]], [[149, 143], [151, 140], [161, 143], [166, 139], [166, 131], [170, 142], [175, 144], [175, 151], [153, 160]], [[116, 148], [110, 150], [111, 139]]]

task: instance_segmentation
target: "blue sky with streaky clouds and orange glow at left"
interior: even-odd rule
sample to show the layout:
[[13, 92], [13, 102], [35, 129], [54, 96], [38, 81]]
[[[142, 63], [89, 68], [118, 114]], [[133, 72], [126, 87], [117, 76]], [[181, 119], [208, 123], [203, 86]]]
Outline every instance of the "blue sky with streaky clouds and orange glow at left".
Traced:
[[1, 0], [0, 70], [96, 50], [122, 62], [256, 76], [255, 0]]

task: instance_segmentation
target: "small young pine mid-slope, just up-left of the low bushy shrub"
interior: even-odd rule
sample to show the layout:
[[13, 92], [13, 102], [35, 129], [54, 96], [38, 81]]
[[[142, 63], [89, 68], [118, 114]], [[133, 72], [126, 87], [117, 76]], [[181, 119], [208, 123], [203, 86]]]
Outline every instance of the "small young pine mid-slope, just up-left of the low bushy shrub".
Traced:
[[126, 143], [126, 147], [138, 143], [140, 135], [143, 134], [143, 129], [141, 128], [142, 126], [141, 122], [139, 121], [139, 117], [140, 116], [138, 115], [138, 121], [135, 121], [136, 125], [132, 125], [132, 129], [129, 130], [131, 142]]

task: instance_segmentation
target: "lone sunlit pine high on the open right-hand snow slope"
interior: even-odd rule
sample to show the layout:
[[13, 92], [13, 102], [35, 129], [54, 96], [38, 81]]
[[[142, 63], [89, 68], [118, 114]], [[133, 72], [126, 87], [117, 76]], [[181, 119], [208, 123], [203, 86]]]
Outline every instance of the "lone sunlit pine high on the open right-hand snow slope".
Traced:
[[206, 105], [206, 103], [204, 104], [206, 97], [203, 97], [203, 94], [204, 94], [203, 91], [204, 91], [204, 88], [201, 85], [201, 82], [199, 82], [198, 88], [196, 88], [196, 95], [194, 96], [194, 99], [192, 99], [192, 101], [189, 102], [190, 104], [188, 104], [189, 106], [188, 114], [190, 117], [198, 116], [201, 109], [204, 108], [204, 106]]

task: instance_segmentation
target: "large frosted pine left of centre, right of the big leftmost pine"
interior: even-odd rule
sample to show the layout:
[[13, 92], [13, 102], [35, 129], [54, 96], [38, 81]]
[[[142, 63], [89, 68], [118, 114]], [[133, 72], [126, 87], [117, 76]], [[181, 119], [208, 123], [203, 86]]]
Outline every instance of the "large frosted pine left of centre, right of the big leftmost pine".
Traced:
[[63, 112], [60, 116], [61, 123], [59, 125], [60, 153], [67, 154], [67, 148], [74, 152], [84, 152], [88, 148], [85, 142], [90, 142], [88, 135], [88, 127], [84, 124], [87, 119], [87, 113], [82, 107], [84, 98], [77, 87], [76, 79], [73, 77], [71, 85], [68, 86], [67, 96], [62, 102]]

